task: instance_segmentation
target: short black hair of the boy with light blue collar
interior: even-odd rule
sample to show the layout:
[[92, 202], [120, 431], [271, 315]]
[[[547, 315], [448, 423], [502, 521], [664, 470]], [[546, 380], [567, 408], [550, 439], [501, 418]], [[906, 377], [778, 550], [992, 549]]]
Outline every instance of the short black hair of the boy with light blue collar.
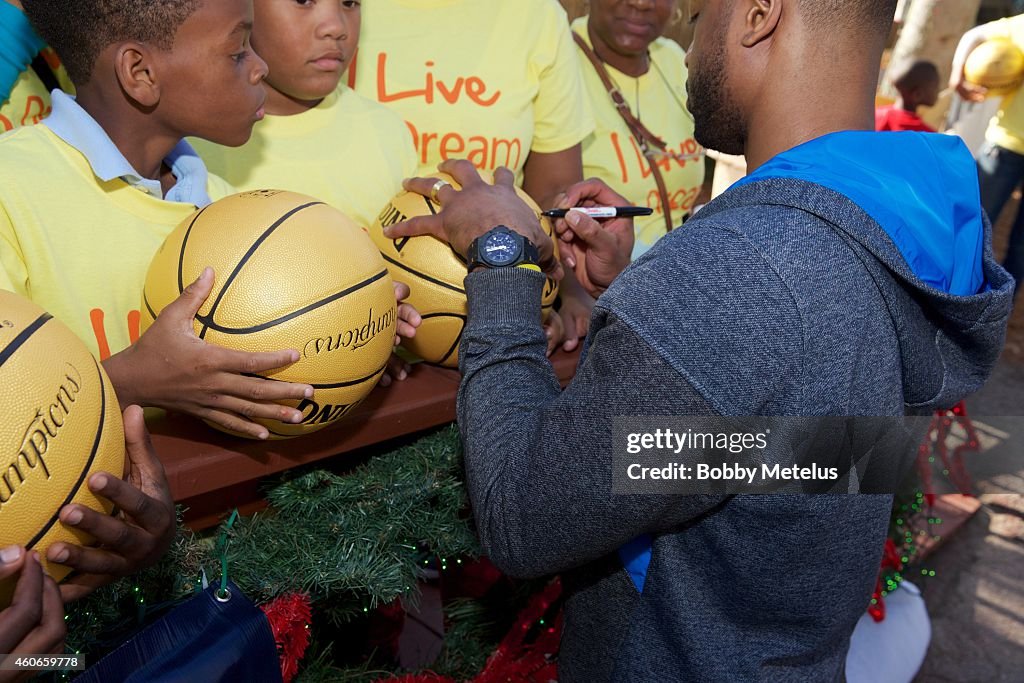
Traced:
[[23, 0], [25, 13], [68, 69], [75, 85], [89, 82], [108, 46], [136, 40], [164, 50], [203, 0]]

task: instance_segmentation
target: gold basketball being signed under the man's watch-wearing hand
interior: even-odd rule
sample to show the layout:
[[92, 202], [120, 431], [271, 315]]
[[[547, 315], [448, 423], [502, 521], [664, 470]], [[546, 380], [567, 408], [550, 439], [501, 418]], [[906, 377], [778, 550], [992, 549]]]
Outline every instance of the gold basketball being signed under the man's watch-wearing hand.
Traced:
[[[451, 182], [459, 188], [452, 176], [438, 173], [437, 178]], [[492, 179], [484, 176], [487, 182]], [[521, 189], [519, 197], [538, 213], [537, 204]], [[451, 246], [440, 240], [424, 236], [388, 240], [384, 228], [415, 216], [437, 213], [440, 207], [426, 197], [416, 193], [402, 191], [392, 199], [370, 228], [370, 237], [381, 250], [387, 261], [391, 275], [409, 285], [412, 291], [409, 303], [416, 307], [423, 323], [416, 330], [416, 337], [402, 340], [402, 346], [433, 365], [445, 368], [459, 367], [459, 342], [466, 325], [466, 261], [455, 253]], [[544, 230], [552, 236], [553, 226], [547, 218], [541, 218]], [[555, 240], [555, 255], [558, 252]], [[544, 287], [542, 311], [547, 321], [558, 296], [558, 283], [549, 279]]]

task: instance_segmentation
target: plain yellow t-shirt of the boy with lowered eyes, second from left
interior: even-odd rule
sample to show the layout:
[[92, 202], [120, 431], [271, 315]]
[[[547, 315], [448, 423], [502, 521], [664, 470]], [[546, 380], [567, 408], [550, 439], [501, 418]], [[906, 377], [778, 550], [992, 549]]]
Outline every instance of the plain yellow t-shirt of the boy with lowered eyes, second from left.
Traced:
[[409, 129], [393, 112], [341, 86], [315, 109], [267, 116], [242, 147], [189, 140], [207, 168], [240, 190], [315, 197], [364, 227], [416, 174]]

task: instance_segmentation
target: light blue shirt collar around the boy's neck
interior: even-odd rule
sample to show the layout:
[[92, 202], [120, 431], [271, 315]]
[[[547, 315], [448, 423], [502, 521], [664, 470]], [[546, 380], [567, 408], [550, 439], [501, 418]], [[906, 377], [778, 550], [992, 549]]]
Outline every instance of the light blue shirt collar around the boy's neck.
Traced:
[[53, 134], [78, 150], [97, 178], [110, 182], [121, 178], [132, 187], [168, 202], [181, 202], [203, 208], [210, 204], [207, 191], [209, 174], [206, 164], [190, 144], [181, 140], [165, 159], [177, 183], [165, 196], [159, 180], [143, 178], [132, 168], [106, 131], [83, 110], [75, 98], [54, 90], [53, 113], [43, 122]]

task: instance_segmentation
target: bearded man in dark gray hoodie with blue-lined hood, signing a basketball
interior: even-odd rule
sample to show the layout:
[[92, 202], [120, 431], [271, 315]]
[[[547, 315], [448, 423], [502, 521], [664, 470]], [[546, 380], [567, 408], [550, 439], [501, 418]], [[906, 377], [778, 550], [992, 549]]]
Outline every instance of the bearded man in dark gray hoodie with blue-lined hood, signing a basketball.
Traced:
[[[455, 162], [461, 191], [410, 181], [443, 211], [388, 234], [469, 261], [473, 512], [500, 568], [563, 573], [561, 680], [839, 681], [892, 497], [614, 495], [612, 420], [951, 405], [998, 356], [1013, 281], [963, 143], [868, 132], [895, 0], [693, 5], [697, 139], [752, 174], [625, 270], [629, 221], [559, 225], [600, 295], [568, 388], [545, 358], [535, 264], [562, 266], [509, 172], [492, 186]], [[621, 198], [591, 181], [563, 206], [585, 201]]]

